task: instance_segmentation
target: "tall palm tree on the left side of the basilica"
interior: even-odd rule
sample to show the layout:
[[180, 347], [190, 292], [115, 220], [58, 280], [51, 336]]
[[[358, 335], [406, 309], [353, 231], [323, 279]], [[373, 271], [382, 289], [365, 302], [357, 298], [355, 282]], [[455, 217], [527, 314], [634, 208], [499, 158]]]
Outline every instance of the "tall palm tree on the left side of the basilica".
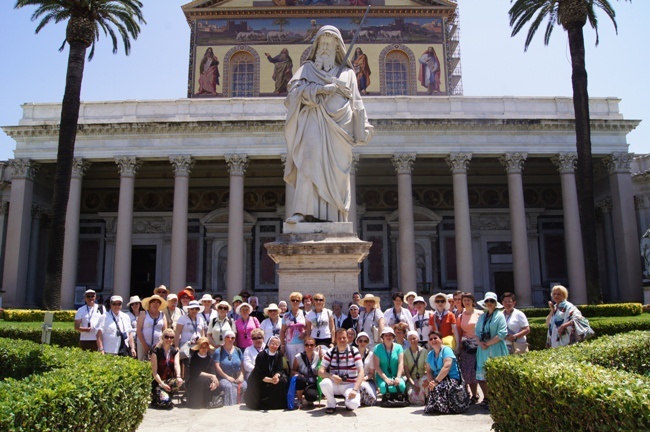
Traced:
[[131, 38], [140, 34], [139, 24], [144, 24], [138, 0], [17, 0], [16, 9], [36, 6], [32, 21], [40, 20], [36, 33], [50, 22], [68, 21], [66, 35], [59, 51], [70, 45], [65, 92], [61, 103], [59, 146], [56, 156], [54, 193], [52, 198], [52, 229], [49, 235], [47, 274], [43, 303], [47, 309], [61, 307], [61, 272], [63, 244], [65, 240], [65, 216], [70, 192], [70, 177], [74, 145], [77, 137], [81, 82], [83, 80], [86, 50], [91, 47], [88, 60], [95, 54], [95, 42], [100, 31], [110, 36], [113, 53], [117, 52], [118, 34], [124, 44], [124, 52], [131, 51]]

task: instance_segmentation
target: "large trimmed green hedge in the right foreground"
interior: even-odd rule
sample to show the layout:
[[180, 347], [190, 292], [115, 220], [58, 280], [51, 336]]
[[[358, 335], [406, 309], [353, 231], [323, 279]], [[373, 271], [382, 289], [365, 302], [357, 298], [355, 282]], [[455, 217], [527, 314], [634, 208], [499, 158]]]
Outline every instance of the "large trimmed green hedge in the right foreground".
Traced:
[[650, 429], [650, 332], [491, 359], [496, 431]]

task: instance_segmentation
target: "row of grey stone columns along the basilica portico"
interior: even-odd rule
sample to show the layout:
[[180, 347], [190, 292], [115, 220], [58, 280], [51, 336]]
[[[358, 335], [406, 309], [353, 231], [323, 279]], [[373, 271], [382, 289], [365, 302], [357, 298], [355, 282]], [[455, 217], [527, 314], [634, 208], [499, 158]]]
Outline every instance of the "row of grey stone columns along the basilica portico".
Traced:
[[[615, 255], [607, 251], [607, 261], [615, 260], [617, 285], [623, 301], [639, 300], [641, 268], [638, 259], [637, 224], [634, 213], [629, 154], [612, 154], [603, 162], [609, 172], [611, 188], [611, 223], [605, 229], [613, 242]], [[526, 153], [505, 153], [499, 160], [503, 164], [507, 182], [510, 209], [510, 230], [512, 233], [512, 255], [515, 280], [515, 293], [520, 305], [532, 304], [531, 258], [529, 252], [528, 227], [526, 226], [523, 194], [523, 170]], [[396, 170], [399, 212], [399, 288], [403, 292], [416, 291], [416, 253], [412, 198], [412, 173], [417, 155], [398, 153], [391, 161]], [[171, 236], [170, 288], [181, 289], [186, 280], [186, 255], [188, 232], [188, 193], [189, 178], [195, 160], [190, 155], [176, 155], [169, 158], [174, 170], [174, 207]], [[232, 298], [244, 288], [245, 281], [245, 239], [244, 239], [244, 177], [249, 163], [247, 155], [225, 155], [230, 175], [229, 185], [229, 231], [227, 263], [227, 298]], [[454, 222], [456, 260], [458, 270], [458, 289], [474, 291], [474, 264], [472, 230], [468, 197], [468, 171], [471, 153], [451, 153], [445, 158], [453, 178]], [[564, 213], [564, 232], [568, 261], [568, 277], [571, 299], [575, 303], [586, 302], [586, 283], [582, 250], [582, 238], [578, 215], [578, 200], [575, 181], [575, 153], [552, 155], [551, 160], [558, 169], [562, 187]], [[120, 175], [119, 207], [115, 232], [113, 294], [128, 298], [130, 294], [131, 248], [133, 226], [133, 197], [135, 179], [142, 161], [133, 156], [119, 156], [115, 163]], [[356, 187], [356, 168], [359, 163], [355, 156], [351, 169], [351, 187]], [[6, 251], [4, 254], [3, 295], [5, 307], [20, 307], [25, 303], [27, 292], [30, 235], [32, 228], [32, 198], [34, 176], [38, 163], [29, 159], [10, 161], [13, 169], [11, 197], [6, 231]], [[74, 302], [75, 279], [77, 274], [79, 212], [81, 186], [84, 174], [90, 168], [89, 161], [76, 158], [70, 184], [70, 198], [66, 219], [66, 237], [63, 256], [62, 307], [72, 308]], [[287, 186], [287, 192], [290, 191]], [[354, 197], [354, 192], [353, 192]], [[6, 208], [6, 206], [5, 206]], [[286, 210], [290, 213], [290, 194], [287, 194]], [[356, 202], [352, 200], [350, 220], [356, 220]], [[2, 216], [4, 217], [4, 215]], [[356, 227], [355, 227], [356, 228]], [[107, 236], [108, 236], [107, 232]], [[33, 248], [33, 246], [32, 246]], [[111, 253], [107, 252], [107, 255]], [[608, 276], [608, 280], [612, 278]]]

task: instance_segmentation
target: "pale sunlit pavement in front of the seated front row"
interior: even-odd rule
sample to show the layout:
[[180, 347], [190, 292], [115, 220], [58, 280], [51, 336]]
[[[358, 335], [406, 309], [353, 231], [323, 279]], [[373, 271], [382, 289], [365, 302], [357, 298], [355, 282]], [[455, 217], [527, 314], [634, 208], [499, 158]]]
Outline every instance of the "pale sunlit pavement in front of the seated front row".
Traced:
[[148, 409], [138, 432], [206, 431], [452, 431], [488, 432], [492, 428], [489, 413], [472, 405], [464, 414], [423, 415], [422, 407], [362, 407], [346, 411], [339, 401], [335, 414], [316, 407], [295, 411], [252, 411], [244, 405], [213, 410], [176, 407], [171, 411]]

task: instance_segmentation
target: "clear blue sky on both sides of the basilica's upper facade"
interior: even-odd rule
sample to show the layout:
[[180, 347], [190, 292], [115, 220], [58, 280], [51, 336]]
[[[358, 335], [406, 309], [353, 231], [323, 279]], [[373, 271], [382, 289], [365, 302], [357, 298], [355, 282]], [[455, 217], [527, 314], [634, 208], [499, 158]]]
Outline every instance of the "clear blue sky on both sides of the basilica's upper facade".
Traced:
[[[619, 34], [600, 14], [600, 45], [585, 29], [591, 97], [615, 96], [627, 119], [645, 120], [628, 135], [630, 151], [650, 153], [650, 1], [611, 0]], [[102, 38], [86, 63], [82, 100], [178, 99], [187, 94], [189, 27], [180, 9], [188, 1], [143, 0], [148, 24], [133, 43], [113, 55]], [[59, 102], [63, 97], [67, 49], [58, 48], [65, 24], [34, 34], [32, 8], [14, 10], [0, 2], [0, 125], [16, 125], [25, 102]], [[510, 37], [508, 0], [460, 0], [461, 57], [466, 96], [571, 96], [566, 33], [556, 28], [545, 47], [543, 33], [524, 53], [525, 34]], [[14, 141], [0, 132], [0, 160], [13, 157]]]

